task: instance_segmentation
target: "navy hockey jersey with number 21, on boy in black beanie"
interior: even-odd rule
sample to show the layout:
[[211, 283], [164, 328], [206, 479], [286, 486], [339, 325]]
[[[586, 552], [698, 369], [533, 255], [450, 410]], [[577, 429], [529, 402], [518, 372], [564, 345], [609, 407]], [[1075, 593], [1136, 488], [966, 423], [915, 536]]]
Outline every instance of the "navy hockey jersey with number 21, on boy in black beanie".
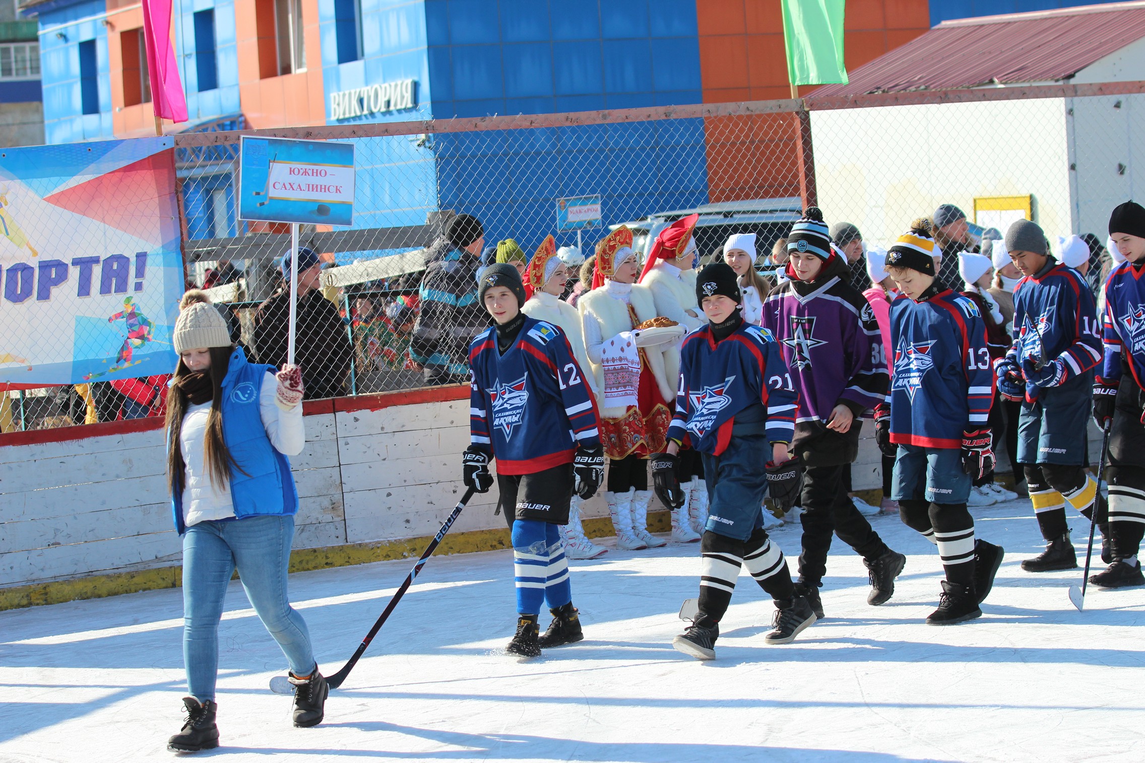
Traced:
[[764, 414], [768, 442], [790, 443], [799, 395], [771, 332], [742, 324], [720, 342], [698, 328], [680, 350], [680, 388], [669, 439], [719, 455], [732, 440], [737, 414]]

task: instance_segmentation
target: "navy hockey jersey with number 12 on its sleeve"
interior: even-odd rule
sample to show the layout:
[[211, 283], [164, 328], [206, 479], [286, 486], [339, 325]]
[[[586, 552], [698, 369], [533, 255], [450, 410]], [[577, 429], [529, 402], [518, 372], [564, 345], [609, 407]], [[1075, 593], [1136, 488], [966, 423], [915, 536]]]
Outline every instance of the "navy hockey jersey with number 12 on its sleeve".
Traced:
[[469, 344], [469, 439], [498, 474], [544, 471], [600, 445], [595, 402], [556, 326], [526, 317], [505, 355], [488, 328]]

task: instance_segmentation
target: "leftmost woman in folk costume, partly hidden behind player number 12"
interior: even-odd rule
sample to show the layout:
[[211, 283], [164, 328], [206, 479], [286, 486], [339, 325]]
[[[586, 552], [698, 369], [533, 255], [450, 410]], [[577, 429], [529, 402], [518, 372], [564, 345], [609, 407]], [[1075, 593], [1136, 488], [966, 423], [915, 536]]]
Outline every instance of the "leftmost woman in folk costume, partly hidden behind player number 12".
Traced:
[[[556, 243], [552, 236], [545, 237], [537, 252], [524, 270], [524, 291], [529, 294], [528, 302], [521, 312], [544, 320], [564, 332], [572, 347], [572, 357], [581, 366], [582, 375], [594, 395], [599, 396], [597, 380], [591, 375], [592, 366], [584, 353], [584, 336], [581, 332], [581, 315], [571, 304], [561, 302], [561, 294], [568, 283], [567, 265], [556, 256]], [[594, 559], [608, 553], [603, 546], [597, 546], [584, 534], [581, 525], [581, 498], [574, 493], [569, 504], [569, 522], [561, 525], [564, 535], [564, 556], [570, 559]]]

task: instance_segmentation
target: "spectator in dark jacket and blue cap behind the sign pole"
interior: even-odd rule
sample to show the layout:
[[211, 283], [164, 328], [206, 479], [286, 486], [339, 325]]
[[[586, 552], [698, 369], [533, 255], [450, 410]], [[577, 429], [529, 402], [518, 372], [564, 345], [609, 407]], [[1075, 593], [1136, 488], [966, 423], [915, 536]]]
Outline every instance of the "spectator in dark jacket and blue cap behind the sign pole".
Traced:
[[[253, 350], [258, 361], [282, 368], [286, 363], [290, 327], [290, 255], [283, 257], [283, 286], [254, 313]], [[322, 295], [317, 253], [298, 249], [298, 317], [294, 326], [294, 363], [302, 368], [306, 398], [346, 394], [346, 373], [353, 347], [334, 303]]]

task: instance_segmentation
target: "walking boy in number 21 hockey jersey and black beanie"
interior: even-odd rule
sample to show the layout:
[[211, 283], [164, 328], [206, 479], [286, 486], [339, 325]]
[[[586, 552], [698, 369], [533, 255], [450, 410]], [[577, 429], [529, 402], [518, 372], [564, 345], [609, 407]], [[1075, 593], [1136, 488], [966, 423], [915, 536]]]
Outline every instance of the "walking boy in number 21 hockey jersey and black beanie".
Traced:
[[815, 613], [796, 593], [783, 553], [763, 527], [768, 490], [788, 509], [799, 485], [799, 460], [788, 455], [798, 395], [787, 364], [768, 331], [744, 323], [743, 297], [729, 265], [718, 262], [701, 271], [696, 301], [709, 323], [684, 342], [668, 452], [652, 456], [652, 474], [656, 494], [677, 508], [684, 493], [676, 454], [686, 438], [704, 461], [710, 503], [700, 546], [700, 611], [672, 645], [710, 660], [741, 566], [779, 607], [767, 643], [792, 641], [815, 621]]

